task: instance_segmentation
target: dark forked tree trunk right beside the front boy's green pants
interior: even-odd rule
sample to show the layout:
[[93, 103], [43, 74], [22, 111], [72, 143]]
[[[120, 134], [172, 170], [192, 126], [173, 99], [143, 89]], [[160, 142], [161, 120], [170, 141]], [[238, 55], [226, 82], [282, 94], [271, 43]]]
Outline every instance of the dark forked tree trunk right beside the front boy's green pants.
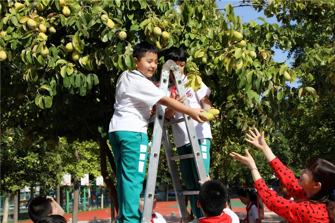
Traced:
[[111, 150], [109, 149], [106, 140], [99, 137], [99, 144], [100, 144], [100, 168], [101, 168], [101, 174], [104, 178], [104, 182], [106, 186], [108, 187], [109, 191], [111, 192], [113, 199], [114, 199], [114, 206], [116, 211], [119, 211], [119, 203], [118, 203], [118, 194], [115, 188], [115, 185], [111, 179], [111, 177], [108, 174], [107, 170], [107, 160], [106, 155], [108, 156], [109, 163], [111, 165], [112, 171], [116, 173], [116, 165], [115, 160], [113, 157], [113, 154]]

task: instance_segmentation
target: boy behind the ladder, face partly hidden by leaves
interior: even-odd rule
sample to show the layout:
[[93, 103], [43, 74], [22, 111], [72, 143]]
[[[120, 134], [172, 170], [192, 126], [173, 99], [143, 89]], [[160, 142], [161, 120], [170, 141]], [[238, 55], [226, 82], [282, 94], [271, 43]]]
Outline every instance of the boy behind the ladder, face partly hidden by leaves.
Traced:
[[[183, 49], [177, 47], [171, 47], [166, 50], [164, 55], [164, 61], [173, 60], [179, 66], [180, 72], [182, 73], [182, 79], [184, 85], [188, 82], [187, 75], [184, 75], [184, 67], [186, 63], [186, 53]], [[171, 76], [171, 79], [174, 77]], [[202, 108], [206, 111], [213, 108], [211, 101], [208, 99], [210, 95], [210, 90], [207, 86], [202, 82], [201, 88], [194, 92], [191, 87], [185, 87], [186, 91], [186, 99], [189, 102], [191, 108]], [[172, 98], [178, 98], [178, 92], [176, 92], [176, 88], [170, 92], [170, 96]], [[180, 97], [178, 100], [185, 100], [185, 96]], [[165, 111], [165, 118], [169, 118], [171, 120], [177, 120], [183, 117], [183, 114], [176, 112], [174, 109], [169, 108]], [[214, 118], [217, 118], [215, 116]], [[209, 149], [210, 149], [210, 139], [212, 138], [211, 129], [209, 122], [198, 123], [194, 122], [195, 131], [197, 133], [200, 150], [202, 154], [202, 159], [204, 161], [206, 173], [209, 172]], [[177, 147], [178, 155], [185, 155], [192, 153], [192, 147], [190, 144], [189, 137], [187, 135], [187, 129], [184, 122], [180, 122], [174, 124], [172, 127], [173, 139], [175, 141], [175, 145]], [[188, 190], [199, 190], [200, 184], [198, 183], [199, 178], [197, 174], [197, 170], [195, 167], [194, 159], [181, 159], [180, 160], [180, 169], [182, 173], [182, 177], [185, 183], [185, 186]], [[192, 174], [193, 173], [193, 174]], [[190, 195], [190, 203], [193, 214], [197, 217], [203, 217], [201, 209], [197, 207], [197, 201], [199, 199], [198, 195]]]

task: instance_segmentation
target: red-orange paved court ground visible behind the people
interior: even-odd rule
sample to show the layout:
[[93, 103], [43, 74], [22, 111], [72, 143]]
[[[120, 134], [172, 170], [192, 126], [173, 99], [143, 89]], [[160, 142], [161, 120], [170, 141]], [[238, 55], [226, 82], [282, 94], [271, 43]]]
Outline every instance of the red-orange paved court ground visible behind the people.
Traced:
[[[239, 216], [240, 219], [244, 219], [246, 217], [246, 208], [244, 205], [239, 204], [239, 201], [233, 200], [234, 203], [232, 203], [235, 206], [240, 206], [240, 207], [234, 207], [232, 210]], [[241, 207], [242, 206], [242, 207]], [[173, 223], [173, 222], [178, 222], [179, 219], [179, 212], [178, 212], [178, 207], [177, 207], [177, 202], [176, 201], [169, 201], [169, 202], [157, 202], [155, 211], [160, 213], [161, 215], [164, 216], [166, 219], [166, 222], [168, 223]], [[172, 216], [172, 212], [175, 213], [175, 216]], [[263, 223], [272, 223], [272, 222], [279, 222], [278, 216], [267, 210], [265, 208], [265, 219], [262, 220]], [[72, 214], [65, 214], [64, 217], [69, 221], [70, 218], [72, 218]], [[86, 212], [80, 212], [78, 213], [78, 221], [80, 223], [92, 223], [94, 220], [94, 217], [98, 218], [98, 222], [110, 222], [111, 219], [111, 209], [110, 208], [105, 208], [105, 209], [99, 209], [99, 210], [94, 210], [94, 211], [86, 211]], [[32, 223], [31, 220], [24, 221], [23, 223]]]

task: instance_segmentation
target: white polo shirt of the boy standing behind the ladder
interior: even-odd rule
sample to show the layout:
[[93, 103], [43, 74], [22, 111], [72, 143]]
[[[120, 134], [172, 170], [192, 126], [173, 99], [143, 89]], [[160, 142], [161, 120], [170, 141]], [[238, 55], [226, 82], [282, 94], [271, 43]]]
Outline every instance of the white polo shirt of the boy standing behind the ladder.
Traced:
[[[182, 76], [184, 86], [188, 82], [185, 75]], [[177, 91], [177, 90], [176, 90]], [[203, 99], [206, 95], [209, 97], [211, 90], [208, 89], [208, 87], [202, 82], [201, 88], [194, 92], [191, 87], [187, 88], [185, 87], [185, 92], [187, 97], [187, 100], [189, 102], [189, 105], [191, 108], [203, 108], [201, 99]], [[167, 96], [171, 96], [171, 89], [168, 90]], [[179, 95], [182, 96], [182, 95]], [[183, 114], [176, 112], [172, 117], [171, 120], [177, 120], [183, 118]], [[192, 119], [193, 120], [193, 119]], [[198, 139], [203, 138], [212, 138], [212, 133], [210, 130], [210, 124], [209, 122], [199, 123], [195, 120], [193, 120], [195, 131], [197, 134]], [[173, 133], [173, 139], [175, 140], [176, 147], [181, 147], [183, 145], [186, 145], [190, 143], [190, 139], [187, 135], [187, 129], [185, 122], [180, 122], [177, 124], [174, 124], [172, 127], [172, 133]]]

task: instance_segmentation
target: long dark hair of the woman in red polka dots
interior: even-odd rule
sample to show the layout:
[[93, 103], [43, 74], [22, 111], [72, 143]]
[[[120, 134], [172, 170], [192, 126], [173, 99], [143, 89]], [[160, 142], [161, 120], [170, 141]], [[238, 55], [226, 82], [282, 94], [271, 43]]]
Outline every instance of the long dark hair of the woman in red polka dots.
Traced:
[[335, 223], [335, 164], [320, 157], [311, 157], [306, 169], [312, 172], [315, 182], [321, 183], [321, 190], [307, 201], [326, 204], [330, 222]]

